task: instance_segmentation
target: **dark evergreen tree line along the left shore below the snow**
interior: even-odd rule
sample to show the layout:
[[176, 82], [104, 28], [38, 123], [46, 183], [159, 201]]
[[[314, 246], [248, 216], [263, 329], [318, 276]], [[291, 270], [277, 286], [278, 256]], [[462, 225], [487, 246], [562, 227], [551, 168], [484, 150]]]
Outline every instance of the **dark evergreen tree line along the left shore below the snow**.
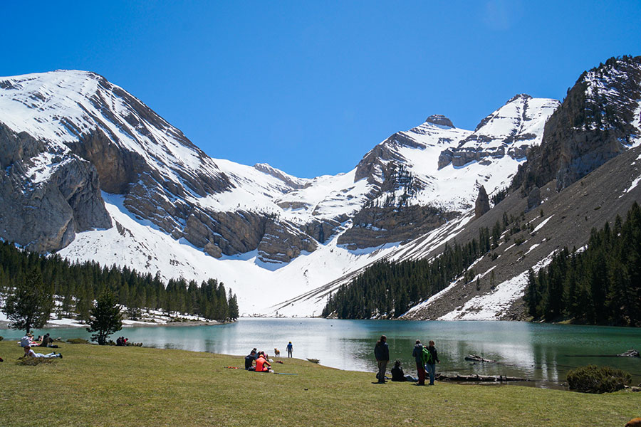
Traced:
[[137, 273], [127, 267], [100, 266], [99, 263], [70, 263], [60, 255], [43, 256], [21, 251], [13, 244], [0, 244], [0, 293], [11, 294], [16, 283], [23, 283], [36, 271], [59, 304], [58, 318], [89, 320], [93, 301], [103, 291], [116, 295], [127, 307], [127, 315], [136, 320], [142, 310], [163, 310], [197, 315], [210, 320], [238, 318], [236, 295], [226, 292], [223, 283], [209, 279], [199, 286], [194, 280], [172, 279], [165, 285], [160, 274]]

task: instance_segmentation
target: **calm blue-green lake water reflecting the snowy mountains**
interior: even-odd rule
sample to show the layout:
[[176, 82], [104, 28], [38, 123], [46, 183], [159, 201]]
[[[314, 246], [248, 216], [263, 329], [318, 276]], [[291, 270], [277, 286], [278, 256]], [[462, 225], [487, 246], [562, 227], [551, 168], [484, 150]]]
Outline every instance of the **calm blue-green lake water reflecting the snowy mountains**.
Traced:
[[[52, 328], [53, 337], [88, 338], [83, 328]], [[5, 339], [19, 339], [23, 332], [0, 330]], [[390, 358], [400, 359], [406, 373], [415, 374], [412, 349], [416, 339], [436, 342], [443, 373], [507, 375], [535, 380], [537, 386], [565, 381], [568, 370], [587, 364], [608, 365], [629, 371], [632, 384], [641, 382], [641, 358], [598, 357], [641, 350], [641, 329], [583, 325], [546, 325], [527, 322], [416, 322], [398, 320], [329, 320], [244, 318], [230, 325], [194, 327], [125, 327], [124, 335], [145, 347], [187, 349], [197, 352], [244, 356], [256, 347], [273, 356], [273, 349], [286, 357], [286, 344], [293, 343], [293, 356], [320, 359], [320, 364], [338, 369], [376, 371], [374, 344], [387, 335]], [[467, 362], [478, 354], [500, 363]], [[238, 366], [243, 365], [239, 358]], [[388, 369], [390, 369], [388, 365]]]

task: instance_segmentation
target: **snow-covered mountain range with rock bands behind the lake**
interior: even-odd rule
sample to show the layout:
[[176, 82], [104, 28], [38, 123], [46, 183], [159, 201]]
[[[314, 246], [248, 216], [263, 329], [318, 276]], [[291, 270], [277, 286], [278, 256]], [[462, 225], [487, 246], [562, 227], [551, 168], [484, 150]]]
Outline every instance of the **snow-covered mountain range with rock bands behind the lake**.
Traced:
[[95, 73], [0, 78], [0, 237], [163, 278], [216, 277], [244, 313], [318, 314], [318, 297], [279, 303], [461, 229], [480, 186], [509, 185], [556, 107], [517, 95], [474, 131], [430, 116], [350, 172], [300, 179], [207, 156]]

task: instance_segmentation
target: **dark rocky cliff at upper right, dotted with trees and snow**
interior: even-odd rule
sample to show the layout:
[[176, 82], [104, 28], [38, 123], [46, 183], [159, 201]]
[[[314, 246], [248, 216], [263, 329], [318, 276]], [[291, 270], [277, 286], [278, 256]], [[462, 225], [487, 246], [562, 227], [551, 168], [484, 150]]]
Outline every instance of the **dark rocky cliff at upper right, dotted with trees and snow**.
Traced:
[[556, 189], [640, 141], [641, 56], [610, 58], [580, 75], [548, 120], [543, 142], [518, 169], [513, 188], [526, 194], [556, 179]]

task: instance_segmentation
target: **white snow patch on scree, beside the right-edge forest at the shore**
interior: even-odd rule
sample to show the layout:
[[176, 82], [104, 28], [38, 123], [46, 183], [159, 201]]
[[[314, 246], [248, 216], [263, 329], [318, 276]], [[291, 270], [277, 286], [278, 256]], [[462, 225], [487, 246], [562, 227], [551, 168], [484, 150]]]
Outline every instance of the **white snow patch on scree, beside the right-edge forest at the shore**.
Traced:
[[[552, 262], [553, 251], [532, 267], [534, 272]], [[498, 320], [518, 298], [523, 296], [528, 284], [528, 270], [504, 281], [486, 295], [479, 295], [467, 301], [462, 307], [447, 313], [439, 320]]]

